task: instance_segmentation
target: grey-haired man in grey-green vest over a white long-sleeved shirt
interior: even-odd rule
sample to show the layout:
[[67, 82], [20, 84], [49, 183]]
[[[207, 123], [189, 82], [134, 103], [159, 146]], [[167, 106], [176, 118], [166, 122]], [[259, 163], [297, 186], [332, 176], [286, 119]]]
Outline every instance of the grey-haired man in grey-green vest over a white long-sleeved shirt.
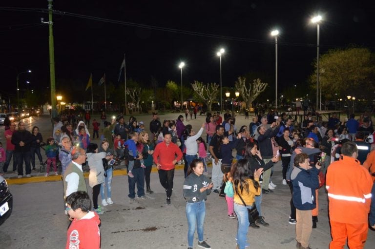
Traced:
[[86, 161], [86, 152], [82, 148], [75, 148], [72, 151], [72, 162], [65, 170], [62, 182], [64, 185], [64, 198], [77, 191], [87, 192], [84, 181], [82, 164]]

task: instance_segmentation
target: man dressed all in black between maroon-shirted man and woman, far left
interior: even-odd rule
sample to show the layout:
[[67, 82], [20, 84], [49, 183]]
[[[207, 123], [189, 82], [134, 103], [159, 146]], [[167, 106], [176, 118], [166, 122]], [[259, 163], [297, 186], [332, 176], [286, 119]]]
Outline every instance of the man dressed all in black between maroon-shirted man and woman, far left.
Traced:
[[15, 146], [14, 153], [17, 161], [18, 178], [22, 178], [23, 175], [23, 161], [25, 161], [26, 176], [31, 177], [31, 141], [31, 133], [26, 131], [26, 125], [21, 121], [18, 123], [18, 131], [15, 131], [12, 135], [12, 144]]

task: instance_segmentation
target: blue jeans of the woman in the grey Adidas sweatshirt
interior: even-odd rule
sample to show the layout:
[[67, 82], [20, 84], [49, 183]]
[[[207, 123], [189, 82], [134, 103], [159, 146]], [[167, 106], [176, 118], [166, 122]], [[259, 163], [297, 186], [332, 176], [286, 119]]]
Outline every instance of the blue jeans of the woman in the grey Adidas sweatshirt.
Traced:
[[195, 226], [198, 232], [198, 241], [203, 241], [203, 223], [206, 216], [205, 200], [200, 202], [186, 203], [186, 217], [187, 217], [187, 243], [188, 247], [193, 247]]

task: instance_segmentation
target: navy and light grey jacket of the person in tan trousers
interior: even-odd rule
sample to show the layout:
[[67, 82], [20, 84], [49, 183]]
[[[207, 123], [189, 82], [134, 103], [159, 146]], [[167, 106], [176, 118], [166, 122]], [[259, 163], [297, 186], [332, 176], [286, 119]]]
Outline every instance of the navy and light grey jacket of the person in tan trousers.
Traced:
[[313, 210], [316, 208], [315, 190], [319, 188], [319, 170], [313, 167], [305, 170], [294, 167], [291, 180], [293, 185], [293, 204], [298, 210]]

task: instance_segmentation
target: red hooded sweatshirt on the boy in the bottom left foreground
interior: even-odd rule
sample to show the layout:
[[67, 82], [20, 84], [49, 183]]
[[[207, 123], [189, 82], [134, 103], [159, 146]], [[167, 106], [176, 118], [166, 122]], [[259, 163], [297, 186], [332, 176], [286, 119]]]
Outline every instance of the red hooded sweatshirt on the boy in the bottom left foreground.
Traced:
[[81, 219], [74, 219], [67, 231], [65, 249], [99, 249], [100, 219], [96, 212], [89, 211]]

